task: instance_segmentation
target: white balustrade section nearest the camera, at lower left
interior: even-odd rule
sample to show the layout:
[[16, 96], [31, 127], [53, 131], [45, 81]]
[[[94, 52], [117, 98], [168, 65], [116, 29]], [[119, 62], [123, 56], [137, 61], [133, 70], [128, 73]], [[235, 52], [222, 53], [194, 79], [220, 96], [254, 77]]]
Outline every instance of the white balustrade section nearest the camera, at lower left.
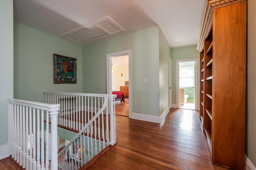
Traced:
[[22, 168], [48, 170], [51, 160], [51, 169], [58, 169], [59, 109], [59, 104], [8, 99], [12, 158]]

